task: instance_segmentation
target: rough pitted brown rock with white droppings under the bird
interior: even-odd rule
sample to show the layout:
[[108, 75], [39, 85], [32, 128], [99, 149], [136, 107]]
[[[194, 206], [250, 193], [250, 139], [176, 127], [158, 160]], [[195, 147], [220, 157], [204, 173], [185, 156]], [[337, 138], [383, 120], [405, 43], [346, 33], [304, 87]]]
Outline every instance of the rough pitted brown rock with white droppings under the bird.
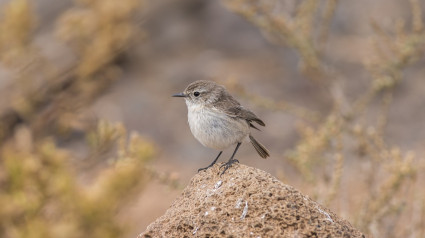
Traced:
[[234, 164], [196, 174], [166, 213], [139, 238], [148, 237], [364, 237], [270, 174]]

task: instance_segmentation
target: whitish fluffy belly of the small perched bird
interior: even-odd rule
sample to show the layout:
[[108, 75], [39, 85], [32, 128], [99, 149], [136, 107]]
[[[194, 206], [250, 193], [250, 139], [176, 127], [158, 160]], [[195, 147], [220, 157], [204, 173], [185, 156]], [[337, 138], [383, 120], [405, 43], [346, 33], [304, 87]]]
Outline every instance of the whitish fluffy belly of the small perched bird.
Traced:
[[205, 109], [189, 110], [188, 122], [193, 136], [202, 145], [217, 150], [243, 142], [249, 134], [245, 120]]

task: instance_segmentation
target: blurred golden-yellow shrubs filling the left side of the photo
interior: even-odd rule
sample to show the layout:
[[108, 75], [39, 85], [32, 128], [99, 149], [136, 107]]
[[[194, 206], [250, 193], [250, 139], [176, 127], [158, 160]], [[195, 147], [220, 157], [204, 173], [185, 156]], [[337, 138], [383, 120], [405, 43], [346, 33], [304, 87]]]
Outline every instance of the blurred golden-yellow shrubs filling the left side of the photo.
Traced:
[[[81, 112], [118, 78], [122, 54], [139, 32], [134, 15], [140, 4], [77, 1], [56, 26], [78, 58], [65, 69], [35, 47], [30, 1], [13, 0], [2, 9], [0, 60], [15, 83], [0, 111], [0, 237], [127, 234], [119, 212], [155, 177], [148, 161], [157, 149], [121, 124]], [[86, 138], [87, 159], [58, 146], [73, 133]], [[89, 178], [82, 168], [91, 169]]]

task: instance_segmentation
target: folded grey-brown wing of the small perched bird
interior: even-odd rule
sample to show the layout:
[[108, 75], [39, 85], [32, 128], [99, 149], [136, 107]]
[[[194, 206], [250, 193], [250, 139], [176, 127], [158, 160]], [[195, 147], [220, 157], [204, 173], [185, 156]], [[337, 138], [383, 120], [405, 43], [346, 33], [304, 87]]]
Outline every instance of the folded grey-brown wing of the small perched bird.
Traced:
[[252, 128], [259, 130], [252, 122], [256, 122], [261, 126], [265, 126], [264, 122], [258, 118], [253, 112], [241, 106], [230, 94], [224, 92], [220, 100], [217, 101], [215, 107], [224, 111], [229, 117], [245, 119]]

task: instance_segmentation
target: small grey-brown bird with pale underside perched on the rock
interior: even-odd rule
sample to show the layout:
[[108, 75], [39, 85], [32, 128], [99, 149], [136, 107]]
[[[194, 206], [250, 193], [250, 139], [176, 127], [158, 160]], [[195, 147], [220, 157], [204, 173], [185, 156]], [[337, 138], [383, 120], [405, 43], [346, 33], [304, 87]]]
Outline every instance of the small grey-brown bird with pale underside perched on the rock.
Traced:
[[229, 161], [223, 164], [224, 174], [233, 163], [239, 162], [233, 157], [242, 142], [251, 142], [262, 158], [269, 157], [268, 150], [251, 135], [250, 128], [259, 130], [253, 123], [265, 126], [253, 112], [241, 106], [226, 88], [207, 80], [195, 81], [184, 92], [173, 97], [183, 97], [188, 110], [188, 122], [193, 136], [205, 147], [217, 149], [220, 153], [214, 161], [198, 172], [213, 166], [224, 149], [232, 145], [236, 148]]

